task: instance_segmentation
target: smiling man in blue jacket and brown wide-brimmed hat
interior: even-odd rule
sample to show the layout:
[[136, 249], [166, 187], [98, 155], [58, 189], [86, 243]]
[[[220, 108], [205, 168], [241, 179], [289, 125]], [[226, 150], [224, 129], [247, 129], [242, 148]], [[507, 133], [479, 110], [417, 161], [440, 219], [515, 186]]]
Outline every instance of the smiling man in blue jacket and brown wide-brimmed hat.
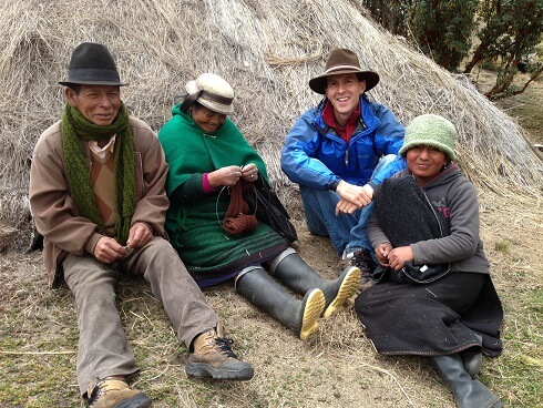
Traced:
[[325, 98], [296, 121], [281, 153], [283, 171], [299, 184], [309, 232], [330, 237], [340, 268], [351, 264], [362, 271], [361, 289], [372, 284], [366, 227], [373, 187], [406, 166], [397, 155], [403, 126], [365, 94], [378, 82], [352, 51], [335, 49], [325, 72], [309, 81]]

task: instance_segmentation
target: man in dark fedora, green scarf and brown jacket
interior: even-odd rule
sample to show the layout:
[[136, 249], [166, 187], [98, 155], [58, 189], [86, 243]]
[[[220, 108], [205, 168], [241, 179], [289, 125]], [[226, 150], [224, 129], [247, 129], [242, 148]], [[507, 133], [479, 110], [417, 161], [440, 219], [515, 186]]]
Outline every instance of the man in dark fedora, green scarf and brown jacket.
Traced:
[[115, 305], [121, 273], [143, 275], [181, 341], [191, 375], [245, 380], [253, 367], [230, 350], [216, 314], [166, 241], [167, 165], [155, 133], [129, 116], [107, 49], [72, 53], [62, 119], [33, 152], [30, 204], [44, 237], [51, 287], [63, 278], [75, 299], [78, 384], [92, 407], [150, 407], [129, 386], [137, 373]]

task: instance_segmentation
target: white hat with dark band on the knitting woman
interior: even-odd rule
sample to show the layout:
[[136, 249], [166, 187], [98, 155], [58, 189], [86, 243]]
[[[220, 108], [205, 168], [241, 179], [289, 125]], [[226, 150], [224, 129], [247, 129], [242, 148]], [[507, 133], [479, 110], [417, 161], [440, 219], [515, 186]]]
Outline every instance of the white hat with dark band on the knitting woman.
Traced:
[[[234, 90], [222, 76], [214, 73], [203, 73], [196, 80], [188, 81], [185, 85], [188, 95], [185, 99], [186, 109], [197, 101], [214, 112], [234, 113]], [[185, 105], [185, 103], [184, 103]], [[184, 106], [182, 106], [184, 110]]]

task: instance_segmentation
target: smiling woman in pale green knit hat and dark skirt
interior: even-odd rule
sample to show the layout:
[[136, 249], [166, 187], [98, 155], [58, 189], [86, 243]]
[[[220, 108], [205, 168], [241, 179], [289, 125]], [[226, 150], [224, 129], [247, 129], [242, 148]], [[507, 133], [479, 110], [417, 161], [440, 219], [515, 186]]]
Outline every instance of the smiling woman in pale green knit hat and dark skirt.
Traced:
[[454, 125], [423, 114], [406, 128], [408, 169], [375, 194], [368, 236], [380, 282], [355, 308], [383, 355], [429, 356], [460, 408], [502, 407], [475, 378], [502, 351], [501, 302], [479, 237], [479, 203], [459, 171]]

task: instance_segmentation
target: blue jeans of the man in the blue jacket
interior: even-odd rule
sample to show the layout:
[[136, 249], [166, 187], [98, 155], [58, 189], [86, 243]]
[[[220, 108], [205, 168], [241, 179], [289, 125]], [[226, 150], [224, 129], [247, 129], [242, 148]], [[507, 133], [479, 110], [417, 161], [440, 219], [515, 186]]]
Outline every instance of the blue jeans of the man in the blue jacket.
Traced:
[[[373, 174], [385, 169], [396, 159], [395, 154], [382, 157], [373, 170]], [[331, 190], [314, 190], [300, 185], [304, 217], [307, 228], [314, 235], [329, 236], [334, 248], [341, 255], [346, 253], [373, 248], [366, 232], [371, 216], [373, 203], [357, 210], [352, 214], [336, 216], [336, 204], [340, 196]]]

